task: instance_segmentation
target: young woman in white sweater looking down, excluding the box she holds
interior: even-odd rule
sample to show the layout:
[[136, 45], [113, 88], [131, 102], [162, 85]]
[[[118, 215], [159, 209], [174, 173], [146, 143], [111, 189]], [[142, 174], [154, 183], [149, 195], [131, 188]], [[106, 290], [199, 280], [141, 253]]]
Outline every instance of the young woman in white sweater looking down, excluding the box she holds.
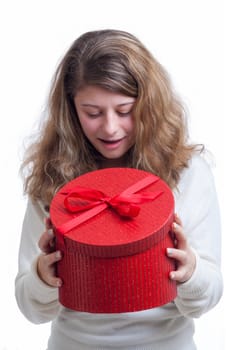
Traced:
[[[23, 167], [28, 207], [16, 298], [34, 323], [52, 321], [48, 350], [193, 350], [193, 318], [222, 294], [220, 223], [214, 181], [200, 147], [188, 143], [185, 113], [167, 73], [133, 35], [83, 34], [61, 61], [48, 117]], [[48, 209], [56, 191], [91, 170], [132, 167], [160, 176], [175, 196], [177, 298], [120, 314], [72, 311], [58, 301], [62, 280]]]

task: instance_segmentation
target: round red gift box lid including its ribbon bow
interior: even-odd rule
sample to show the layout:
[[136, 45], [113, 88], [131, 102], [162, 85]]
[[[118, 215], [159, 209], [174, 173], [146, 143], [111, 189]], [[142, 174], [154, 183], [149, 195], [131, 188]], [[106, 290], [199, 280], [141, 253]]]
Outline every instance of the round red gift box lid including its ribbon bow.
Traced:
[[168, 185], [143, 170], [107, 168], [70, 181], [53, 198], [51, 221], [69, 249], [97, 257], [132, 255], [170, 230], [174, 198]]

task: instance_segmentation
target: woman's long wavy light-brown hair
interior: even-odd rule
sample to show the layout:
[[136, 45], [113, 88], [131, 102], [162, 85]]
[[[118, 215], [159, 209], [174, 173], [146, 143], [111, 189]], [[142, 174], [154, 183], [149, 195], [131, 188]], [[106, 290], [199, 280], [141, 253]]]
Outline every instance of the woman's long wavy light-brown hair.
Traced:
[[83, 34], [59, 64], [50, 90], [47, 119], [22, 168], [25, 192], [49, 204], [66, 182], [98, 169], [100, 155], [85, 137], [74, 106], [87, 85], [136, 97], [136, 142], [128, 167], [160, 176], [171, 188], [196, 149], [187, 142], [185, 112], [164, 68], [133, 35], [119, 30]]

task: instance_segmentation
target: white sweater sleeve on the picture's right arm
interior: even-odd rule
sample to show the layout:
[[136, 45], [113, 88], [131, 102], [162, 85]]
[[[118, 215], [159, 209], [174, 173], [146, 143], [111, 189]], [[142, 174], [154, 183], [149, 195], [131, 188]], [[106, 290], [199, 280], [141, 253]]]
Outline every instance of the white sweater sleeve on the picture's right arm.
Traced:
[[187, 282], [178, 285], [175, 304], [184, 316], [199, 317], [218, 303], [223, 291], [218, 200], [212, 173], [202, 158], [194, 157], [184, 171], [176, 202], [196, 268]]

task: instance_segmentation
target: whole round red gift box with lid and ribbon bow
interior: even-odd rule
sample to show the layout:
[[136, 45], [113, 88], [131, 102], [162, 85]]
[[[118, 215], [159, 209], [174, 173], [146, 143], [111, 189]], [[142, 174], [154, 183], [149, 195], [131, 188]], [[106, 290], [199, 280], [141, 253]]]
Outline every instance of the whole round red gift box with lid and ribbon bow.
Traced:
[[63, 258], [59, 300], [73, 310], [119, 313], [172, 301], [174, 198], [155, 175], [108, 168], [67, 183], [52, 200], [51, 221]]

